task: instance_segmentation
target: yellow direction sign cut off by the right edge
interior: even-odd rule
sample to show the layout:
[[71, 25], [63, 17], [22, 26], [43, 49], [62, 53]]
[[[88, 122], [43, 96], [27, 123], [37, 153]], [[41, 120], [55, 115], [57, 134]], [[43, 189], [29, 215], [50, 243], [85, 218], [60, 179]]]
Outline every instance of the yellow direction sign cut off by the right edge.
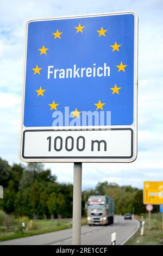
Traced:
[[163, 181], [145, 181], [143, 204], [163, 204]]

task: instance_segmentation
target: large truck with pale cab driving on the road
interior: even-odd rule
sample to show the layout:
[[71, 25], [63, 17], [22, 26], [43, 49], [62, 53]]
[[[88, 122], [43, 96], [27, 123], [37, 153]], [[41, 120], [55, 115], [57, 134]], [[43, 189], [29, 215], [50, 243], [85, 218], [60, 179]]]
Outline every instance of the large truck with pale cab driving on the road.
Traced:
[[108, 196], [90, 196], [86, 203], [88, 225], [114, 223], [114, 199]]

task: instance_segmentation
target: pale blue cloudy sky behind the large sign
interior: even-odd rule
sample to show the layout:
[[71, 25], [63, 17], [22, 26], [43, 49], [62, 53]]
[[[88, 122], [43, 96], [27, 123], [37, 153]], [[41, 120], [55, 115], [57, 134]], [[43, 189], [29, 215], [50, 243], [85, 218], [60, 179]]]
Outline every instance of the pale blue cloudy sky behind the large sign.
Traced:
[[[163, 2], [162, 0], [1, 0], [0, 157], [17, 162], [25, 24], [30, 19], [136, 11], [139, 16], [138, 154], [133, 163], [83, 163], [83, 189], [97, 182], [142, 188], [163, 180]], [[73, 163], [46, 163], [59, 182], [73, 182]]]

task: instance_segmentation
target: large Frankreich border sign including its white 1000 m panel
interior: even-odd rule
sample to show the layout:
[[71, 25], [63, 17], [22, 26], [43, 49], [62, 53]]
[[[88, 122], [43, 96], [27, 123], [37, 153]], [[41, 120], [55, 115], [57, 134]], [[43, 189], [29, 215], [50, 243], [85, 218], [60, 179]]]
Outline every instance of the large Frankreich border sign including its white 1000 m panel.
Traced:
[[32, 20], [20, 159], [131, 162], [137, 152], [137, 15]]

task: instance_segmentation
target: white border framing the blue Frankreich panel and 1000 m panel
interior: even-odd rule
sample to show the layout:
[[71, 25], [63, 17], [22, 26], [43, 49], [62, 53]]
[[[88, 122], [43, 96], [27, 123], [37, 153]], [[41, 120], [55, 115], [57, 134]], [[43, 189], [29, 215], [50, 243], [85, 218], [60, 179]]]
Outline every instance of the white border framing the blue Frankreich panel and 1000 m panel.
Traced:
[[[134, 121], [133, 125], [129, 126], [60, 126], [60, 127], [25, 127], [23, 125], [23, 114], [24, 114], [24, 94], [26, 84], [26, 64], [27, 64], [27, 38], [28, 38], [28, 24], [30, 22], [37, 21], [49, 21], [49, 20], [65, 20], [65, 19], [80, 19], [84, 17], [96, 17], [96, 16], [113, 16], [113, 15], [134, 15]], [[26, 23], [25, 31], [25, 47], [24, 47], [24, 69], [23, 69], [23, 87], [22, 87], [22, 104], [21, 104], [21, 127], [20, 127], [20, 147], [19, 147], [19, 158], [23, 162], [133, 162], [137, 157], [137, 57], [138, 57], [138, 17], [135, 11], [121, 11], [115, 13], [104, 13], [104, 14], [90, 14], [90, 15], [76, 15], [76, 16], [61, 16], [53, 17], [48, 19], [36, 19], [29, 20]], [[131, 159], [24, 159], [22, 157], [22, 144], [23, 144], [23, 132], [24, 130], [78, 130], [78, 129], [116, 129], [116, 128], [130, 128], [133, 129], [133, 157]]]

